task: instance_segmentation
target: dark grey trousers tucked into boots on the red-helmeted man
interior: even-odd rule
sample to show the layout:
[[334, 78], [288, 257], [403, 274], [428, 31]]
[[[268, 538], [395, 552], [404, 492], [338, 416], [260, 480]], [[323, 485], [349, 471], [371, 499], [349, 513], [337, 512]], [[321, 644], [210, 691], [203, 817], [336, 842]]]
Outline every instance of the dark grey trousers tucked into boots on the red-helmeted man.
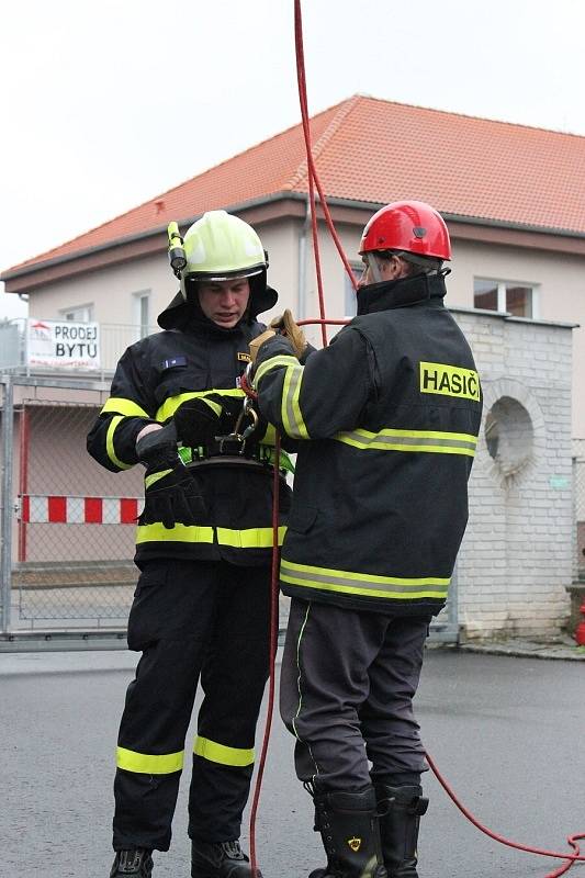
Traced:
[[292, 598], [280, 711], [301, 780], [349, 791], [427, 770], [413, 696], [429, 621]]

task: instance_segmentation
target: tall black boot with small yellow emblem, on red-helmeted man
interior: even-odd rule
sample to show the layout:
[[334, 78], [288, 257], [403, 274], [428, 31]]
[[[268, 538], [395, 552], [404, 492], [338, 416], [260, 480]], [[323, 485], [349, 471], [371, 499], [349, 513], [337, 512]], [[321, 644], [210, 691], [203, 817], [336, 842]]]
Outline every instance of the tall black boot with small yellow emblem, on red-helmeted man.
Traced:
[[362, 792], [315, 793], [315, 829], [327, 866], [308, 878], [387, 878], [382, 860], [373, 787]]

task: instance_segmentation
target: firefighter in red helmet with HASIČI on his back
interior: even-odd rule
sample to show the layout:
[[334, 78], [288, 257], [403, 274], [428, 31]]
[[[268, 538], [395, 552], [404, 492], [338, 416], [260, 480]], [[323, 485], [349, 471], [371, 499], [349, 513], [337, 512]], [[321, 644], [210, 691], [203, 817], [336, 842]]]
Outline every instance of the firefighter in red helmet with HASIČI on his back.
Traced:
[[327, 853], [311, 878], [416, 878], [427, 766], [413, 697], [465, 530], [482, 397], [443, 305], [439, 213], [382, 207], [360, 254], [358, 315], [329, 347], [306, 356], [300, 330], [250, 345], [261, 414], [301, 440], [281, 716]]

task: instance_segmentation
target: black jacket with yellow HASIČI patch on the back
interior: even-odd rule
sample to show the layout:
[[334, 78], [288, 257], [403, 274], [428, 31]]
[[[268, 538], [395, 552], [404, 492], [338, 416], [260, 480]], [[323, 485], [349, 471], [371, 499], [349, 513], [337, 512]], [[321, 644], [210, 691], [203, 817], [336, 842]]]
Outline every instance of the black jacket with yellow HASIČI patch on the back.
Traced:
[[256, 363], [260, 412], [299, 446], [281, 561], [286, 595], [438, 612], [468, 520], [481, 423], [471, 349], [442, 274], [372, 284], [301, 365], [288, 339]]

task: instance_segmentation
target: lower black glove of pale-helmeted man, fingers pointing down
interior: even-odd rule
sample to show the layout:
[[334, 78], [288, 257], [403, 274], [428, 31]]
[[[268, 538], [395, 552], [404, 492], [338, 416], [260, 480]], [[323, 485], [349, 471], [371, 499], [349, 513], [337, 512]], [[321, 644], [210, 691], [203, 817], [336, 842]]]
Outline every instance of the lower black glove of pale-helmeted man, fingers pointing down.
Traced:
[[[148, 470], [146, 471], [148, 477]], [[139, 525], [161, 521], [166, 528], [175, 525], [195, 525], [205, 518], [205, 502], [199, 481], [182, 464], [157, 479], [146, 488]]]

